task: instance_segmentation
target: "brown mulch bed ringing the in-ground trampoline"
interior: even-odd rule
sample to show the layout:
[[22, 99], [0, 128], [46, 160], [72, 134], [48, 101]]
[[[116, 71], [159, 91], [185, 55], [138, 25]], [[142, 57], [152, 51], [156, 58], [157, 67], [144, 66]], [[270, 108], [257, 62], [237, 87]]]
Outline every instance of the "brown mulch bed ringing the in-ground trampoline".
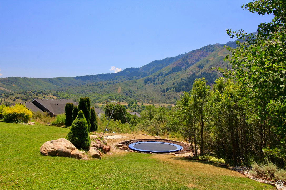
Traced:
[[[173, 144], [177, 144], [183, 147], [182, 150], [178, 151], [178, 152], [173, 152], [175, 154], [185, 154], [185, 153], [192, 153], [192, 150], [190, 149], [190, 145], [189, 144], [185, 144], [183, 142], [177, 142], [174, 140], [167, 140], [167, 139], [158, 139], [158, 138], [154, 138], [154, 139], [135, 139], [135, 140], [127, 140], [124, 142], [120, 142], [118, 144], [122, 144], [122, 146], [118, 146], [117, 147], [122, 149], [122, 150], [128, 150], [129, 152], [138, 152], [138, 151], [134, 151], [131, 150], [130, 148], [128, 148], [128, 145], [134, 142], [148, 142], [148, 141], [155, 141], [155, 142], [168, 142], [168, 143], [173, 143]], [[143, 153], [143, 152], [140, 152]], [[155, 153], [154, 153], [155, 154]], [[168, 153], [165, 153], [168, 154]]]

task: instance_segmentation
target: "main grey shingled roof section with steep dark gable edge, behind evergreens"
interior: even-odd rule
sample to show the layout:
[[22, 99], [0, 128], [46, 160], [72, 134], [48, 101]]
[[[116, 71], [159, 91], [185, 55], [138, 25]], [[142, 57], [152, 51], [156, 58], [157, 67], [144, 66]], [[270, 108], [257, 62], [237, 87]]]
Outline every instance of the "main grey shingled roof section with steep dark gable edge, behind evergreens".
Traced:
[[75, 106], [78, 105], [78, 103], [70, 99], [34, 99], [32, 103], [41, 110], [52, 113], [53, 115], [64, 114], [66, 103], [73, 103]]

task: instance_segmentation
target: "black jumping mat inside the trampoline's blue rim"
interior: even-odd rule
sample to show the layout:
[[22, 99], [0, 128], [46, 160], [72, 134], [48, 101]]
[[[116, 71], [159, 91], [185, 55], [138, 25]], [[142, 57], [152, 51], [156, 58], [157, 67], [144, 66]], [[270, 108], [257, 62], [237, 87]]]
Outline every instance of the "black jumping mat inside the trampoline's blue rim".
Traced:
[[171, 144], [164, 144], [164, 143], [154, 143], [154, 142], [145, 142], [134, 144], [134, 148], [141, 149], [141, 150], [148, 150], [148, 151], [170, 151], [176, 150], [177, 147]]

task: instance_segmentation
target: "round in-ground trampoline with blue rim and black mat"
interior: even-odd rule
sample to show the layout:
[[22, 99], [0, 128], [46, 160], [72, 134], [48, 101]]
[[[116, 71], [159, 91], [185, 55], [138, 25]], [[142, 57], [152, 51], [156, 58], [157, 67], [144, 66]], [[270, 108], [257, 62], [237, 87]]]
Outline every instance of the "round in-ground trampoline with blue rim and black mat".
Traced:
[[183, 149], [182, 146], [178, 144], [168, 143], [168, 142], [134, 142], [128, 145], [131, 150], [139, 152], [152, 152], [152, 153], [169, 153], [177, 152]]

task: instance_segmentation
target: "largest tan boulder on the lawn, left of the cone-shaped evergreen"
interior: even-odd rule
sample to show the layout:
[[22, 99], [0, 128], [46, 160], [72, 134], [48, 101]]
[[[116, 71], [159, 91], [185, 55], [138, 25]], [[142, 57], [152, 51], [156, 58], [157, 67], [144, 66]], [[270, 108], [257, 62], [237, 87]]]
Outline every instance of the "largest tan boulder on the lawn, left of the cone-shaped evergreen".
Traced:
[[40, 148], [40, 153], [45, 156], [63, 156], [78, 159], [83, 157], [83, 154], [65, 138], [45, 142]]

